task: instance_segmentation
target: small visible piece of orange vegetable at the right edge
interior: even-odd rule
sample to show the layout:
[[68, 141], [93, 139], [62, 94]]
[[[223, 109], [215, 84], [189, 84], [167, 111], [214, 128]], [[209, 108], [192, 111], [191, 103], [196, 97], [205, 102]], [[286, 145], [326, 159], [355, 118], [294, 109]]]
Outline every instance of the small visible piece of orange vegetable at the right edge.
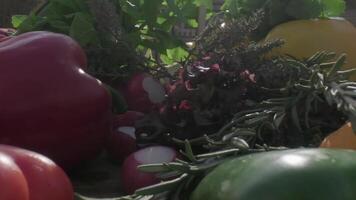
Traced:
[[356, 150], [356, 134], [352, 130], [351, 123], [348, 122], [329, 134], [321, 142], [320, 147]]

